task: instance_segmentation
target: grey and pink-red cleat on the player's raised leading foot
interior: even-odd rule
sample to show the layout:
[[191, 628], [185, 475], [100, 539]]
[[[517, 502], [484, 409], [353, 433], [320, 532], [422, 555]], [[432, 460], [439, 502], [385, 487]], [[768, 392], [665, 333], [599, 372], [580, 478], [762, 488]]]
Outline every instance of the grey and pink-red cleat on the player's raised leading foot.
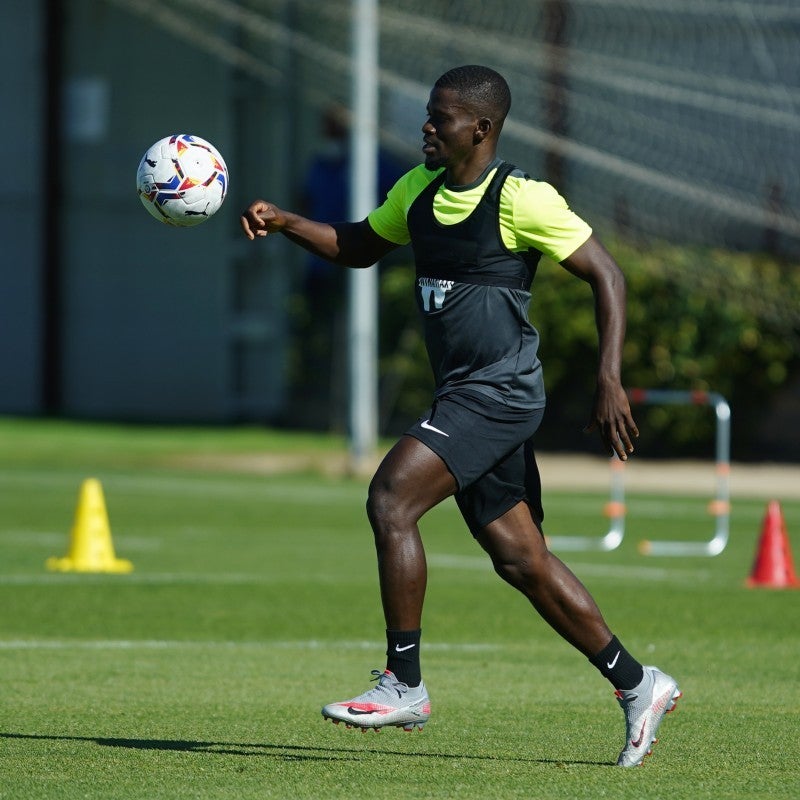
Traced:
[[431, 701], [425, 684], [410, 687], [398, 681], [392, 672], [372, 670], [372, 680], [377, 685], [372, 689], [338, 703], [328, 703], [322, 716], [338, 724], [344, 722], [348, 728], [373, 728], [379, 730], [387, 725], [413, 731], [422, 726], [431, 715]]

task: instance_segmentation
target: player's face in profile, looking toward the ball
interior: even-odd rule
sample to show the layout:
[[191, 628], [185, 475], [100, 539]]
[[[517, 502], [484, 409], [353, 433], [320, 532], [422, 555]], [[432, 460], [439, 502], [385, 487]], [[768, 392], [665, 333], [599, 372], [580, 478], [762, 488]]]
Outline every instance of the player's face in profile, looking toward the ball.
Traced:
[[478, 118], [452, 89], [434, 89], [422, 126], [425, 166], [434, 170], [461, 164], [472, 153]]

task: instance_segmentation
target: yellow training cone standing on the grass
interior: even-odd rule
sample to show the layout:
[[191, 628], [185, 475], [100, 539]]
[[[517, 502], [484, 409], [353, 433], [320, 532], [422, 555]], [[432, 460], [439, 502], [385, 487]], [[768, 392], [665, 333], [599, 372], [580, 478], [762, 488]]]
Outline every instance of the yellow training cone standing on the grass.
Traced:
[[103, 488], [96, 478], [81, 484], [69, 553], [48, 558], [47, 569], [57, 572], [131, 572], [133, 564], [114, 555]]

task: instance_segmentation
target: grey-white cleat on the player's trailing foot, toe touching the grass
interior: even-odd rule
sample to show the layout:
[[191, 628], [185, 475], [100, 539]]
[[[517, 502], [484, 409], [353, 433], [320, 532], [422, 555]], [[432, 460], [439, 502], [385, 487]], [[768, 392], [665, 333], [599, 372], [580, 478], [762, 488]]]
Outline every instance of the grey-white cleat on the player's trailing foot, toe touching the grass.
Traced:
[[675, 708], [681, 690], [674, 678], [656, 667], [645, 667], [642, 682], [635, 689], [616, 692], [625, 712], [625, 747], [618, 767], [638, 767], [653, 752], [656, 732], [665, 714]]

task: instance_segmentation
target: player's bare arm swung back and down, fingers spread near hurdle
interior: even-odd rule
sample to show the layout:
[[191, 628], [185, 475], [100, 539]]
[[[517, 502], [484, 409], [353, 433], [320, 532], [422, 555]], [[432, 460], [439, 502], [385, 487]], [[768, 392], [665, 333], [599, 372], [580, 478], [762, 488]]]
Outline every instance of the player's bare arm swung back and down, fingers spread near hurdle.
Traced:
[[625, 276], [611, 254], [590, 236], [561, 262], [589, 283], [594, 293], [599, 337], [597, 389], [587, 430], [599, 430], [609, 455], [625, 461], [633, 452], [631, 437], [639, 435], [622, 387], [622, 346], [625, 341]]

